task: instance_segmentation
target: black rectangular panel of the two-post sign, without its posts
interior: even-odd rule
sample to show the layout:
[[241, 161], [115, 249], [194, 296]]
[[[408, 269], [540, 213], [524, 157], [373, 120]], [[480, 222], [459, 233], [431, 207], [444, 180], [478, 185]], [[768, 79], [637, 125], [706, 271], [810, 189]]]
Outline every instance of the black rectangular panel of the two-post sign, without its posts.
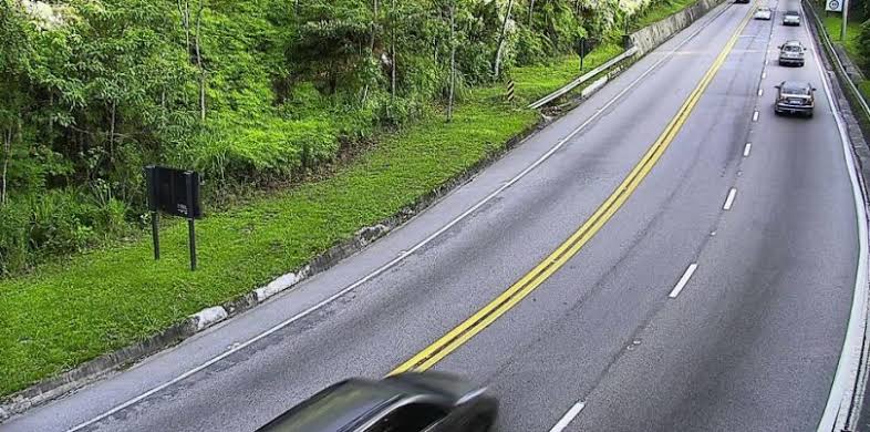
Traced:
[[193, 205], [193, 217], [196, 219], [203, 217], [203, 204], [199, 199], [199, 173], [164, 166], [147, 166], [145, 173], [148, 187], [148, 207], [152, 212], [160, 210], [173, 216], [189, 218], [188, 206]]

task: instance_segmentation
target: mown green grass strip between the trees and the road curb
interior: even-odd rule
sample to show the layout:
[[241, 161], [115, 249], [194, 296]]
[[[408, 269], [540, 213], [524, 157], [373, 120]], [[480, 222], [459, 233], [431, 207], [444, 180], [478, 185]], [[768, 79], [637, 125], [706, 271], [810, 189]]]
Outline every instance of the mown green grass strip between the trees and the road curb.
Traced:
[[[603, 44], [584, 69], [619, 52]], [[519, 106], [572, 80], [578, 68], [576, 56], [518, 68], [512, 106], [501, 102], [501, 85], [473, 90], [453, 123], [428, 116], [381, 136], [327, 179], [209, 215], [197, 223], [196, 272], [187, 267], [186, 225], [174, 224], [160, 234], [159, 261], [142, 239], [0, 281], [0, 395], [248, 292], [395, 214], [532, 125], [537, 113]]]

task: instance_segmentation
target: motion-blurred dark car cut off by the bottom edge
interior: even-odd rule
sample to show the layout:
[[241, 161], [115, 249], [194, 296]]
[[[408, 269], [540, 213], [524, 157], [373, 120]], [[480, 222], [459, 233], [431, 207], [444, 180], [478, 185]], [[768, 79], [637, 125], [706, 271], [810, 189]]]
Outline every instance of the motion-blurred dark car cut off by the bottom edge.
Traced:
[[485, 432], [498, 402], [444, 373], [351, 379], [291, 408], [259, 432]]

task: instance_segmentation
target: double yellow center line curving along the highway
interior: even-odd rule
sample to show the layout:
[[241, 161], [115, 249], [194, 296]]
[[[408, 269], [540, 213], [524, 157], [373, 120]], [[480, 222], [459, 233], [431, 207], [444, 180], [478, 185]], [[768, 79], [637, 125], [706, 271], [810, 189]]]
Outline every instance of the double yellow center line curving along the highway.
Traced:
[[659, 158], [664, 154], [664, 151], [671, 145], [671, 142], [676, 137], [676, 134], [683, 127], [683, 124], [688, 119], [692, 110], [697, 104], [701, 95], [707, 89], [716, 72], [725, 62], [737, 38], [743, 32], [746, 23], [749, 20], [749, 14], [744, 17], [737, 30], [728, 40], [728, 43], [719, 52], [713, 65], [707, 70], [701, 82], [695, 90], [688, 95], [683, 106], [680, 107], [676, 115], [671, 120], [662, 134], [655, 140], [655, 143], [646, 151], [643, 158], [632, 168], [631, 173], [624, 181], [617, 187], [615, 191], [604, 200], [603, 204], [595, 210], [592, 216], [587, 219], [580, 228], [574, 232], [565, 243], [562, 243], [556, 250], [550, 254], [546, 259], [531, 269], [526, 276], [520, 278], [511, 285], [506, 291], [501, 292], [493, 301], [484, 308], [474, 313], [470, 318], [466, 319], [453, 330], [448, 331], [442, 338], [436, 340], [431, 346], [420, 351], [416, 356], [412, 357], [390, 374], [396, 374], [405, 371], [425, 371], [447, 354], [462, 347], [469, 339], [483, 331], [496, 319], [505, 315], [508, 310], [519, 304], [526, 296], [538, 288], [547, 278], [568, 263], [571, 257], [577, 255], [578, 251], [598, 233], [604, 224], [610, 220], [613, 214], [622, 207], [622, 204], [634, 193], [638, 186], [646, 177], [646, 174], [655, 166]]

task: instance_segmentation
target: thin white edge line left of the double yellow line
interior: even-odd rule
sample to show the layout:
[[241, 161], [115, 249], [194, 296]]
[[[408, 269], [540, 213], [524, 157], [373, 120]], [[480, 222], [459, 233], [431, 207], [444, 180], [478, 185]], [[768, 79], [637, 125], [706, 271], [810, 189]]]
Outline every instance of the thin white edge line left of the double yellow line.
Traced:
[[[727, 9], [727, 6], [726, 6], [726, 9]], [[724, 14], [724, 10], [718, 16], [713, 17], [712, 19], [710, 19], [706, 22], [704, 22], [703, 25], [701, 25], [697, 30], [695, 30], [694, 33], [687, 35], [676, 47], [674, 47], [671, 51], [669, 51], [666, 55], [662, 56], [655, 63], [653, 63], [641, 75], [639, 75], [636, 79], [634, 79], [634, 81], [629, 83], [629, 85], [625, 89], [623, 89], [622, 91], [617, 93], [617, 95], [614, 95], [607, 104], [604, 104], [604, 106], [598, 109], [589, 119], [587, 119], [586, 122], [583, 122], [581, 125], [577, 126], [566, 137], [561, 138], [558, 143], [556, 143], [556, 145], [553, 145], [547, 153], [545, 153], [538, 160], [536, 160], [531, 165], [529, 165], [528, 167], [522, 169], [519, 174], [517, 174], [509, 182], [505, 183], [499, 188], [497, 188], [496, 191], [494, 191], [493, 193], [490, 193], [489, 195], [484, 197], [481, 200], [479, 200], [477, 204], [475, 204], [474, 206], [472, 206], [470, 208], [465, 210], [463, 214], [457, 216], [455, 219], [453, 219], [449, 223], [447, 223], [446, 225], [444, 225], [441, 229], [438, 229], [437, 232], [433, 233], [428, 237], [424, 238], [418, 244], [414, 245], [414, 247], [412, 247], [411, 249], [408, 249], [404, 254], [402, 254], [398, 257], [394, 258], [393, 260], [384, 264], [383, 266], [379, 267], [377, 269], [375, 269], [371, 274], [369, 274], [369, 275], [364, 276], [363, 278], [359, 279], [358, 281], [349, 285], [348, 287], [345, 287], [342, 290], [335, 292], [334, 295], [328, 297], [327, 299], [318, 302], [314, 306], [311, 306], [310, 308], [308, 308], [308, 309], [305, 309], [305, 310], [294, 315], [293, 317], [290, 317], [290, 318], [288, 318], [288, 319], [286, 319], [283, 321], [277, 323], [276, 326], [273, 326], [272, 328], [263, 331], [262, 333], [257, 335], [256, 337], [253, 337], [253, 338], [251, 338], [251, 339], [249, 339], [249, 340], [238, 344], [234, 349], [228, 350], [228, 351], [226, 351], [226, 352], [224, 352], [224, 353], [213, 358], [211, 360], [208, 360], [205, 363], [203, 363], [203, 364], [200, 364], [200, 366], [198, 366], [198, 367], [196, 367], [194, 369], [190, 369], [187, 372], [182, 373], [180, 376], [178, 376], [176, 378], [173, 378], [172, 380], [166, 381], [165, 383], [159, 384], [159, 385], [157, 385], [157, 387], [155, 387], [155, 388], [153, 388], [153, 389], [151, 389], [151, 390], [148, 390], [148, 391], [146, 391], [146, 392], [144, 392], [144, 393], [142, 393], [142, 394], [139, 394], [139, 395], [137, 395], [137, 397], [135, 397], [135, 398], [133, 398], [133, 399], [131, 399], [131, 400], [128, 400], [128, 401], [126, 401], [124, 403], [122, 403], [122, 404], [118, 404], [118, 405], [112, 408], [111, 410], [108, 410], [108, 411], [106, 411], [106, 412], [104, 412], [104, 413], [102, 413], [102, 414], [100, 414], [97, 416], [92, 418], [91, 420], [87, 420], [87, 421], [85, 421], [83, 423], [80, 423], [80, 424], [77, 424], [77, 425], [75, 425], [75, 426], [73, 426], [71, 429], [68, 429], [66, 432], [75, 432], [75, 431], [82, 430], [84, 428], [87, 428], [87, 426], [90, 426], [93, 423], [96, 423], [96, 422], [99, 422], [99, 421], [101, 421], [101, 420], [103, 420], [103, 419], [105, 419], [105, 418], [107, 418], [107, 416], [110, 416], [110, 415], [121, 411], [121, 410], [126, 409], [127, 407], [131, 407], [133, 404], [138, 403], [139, 401], [142, 401], [142, 400], [151, 397], [152, 394], [155, 394], [155, 393], [157, 393], [157, 392], [168, 388], [169, 385], [173, 385], [173, 384], [175, 384], [177, 382], [184, 381], [185, 379], [189, 378], [190, 376], [193, 376], [193, 374], [195, 374], [195, 373], [197, 373], [197, 372], [199, 372], [199, 371], [210, 367], [211, 364], [215, 364], [218, 361], [224, 360], [227, 357], [229, 357], [229, 356], [231, 356], [231, 354], [234, 354], [234, 353], [236, 353], [236, 352], [238, 352], [238, 351], [249, 347], [250, 344], [257, 342], [258, 340], [261, 340], [261, 339], [268, 337], [269, 335], [271, 335], [271, 333], [273, 333], [273, 332], [276, 332], [276, 331], [278, 331], [278, 330], [280, 330], [280, 329], [284, 328], [284, 327], [287, 327], [287, 326], [289, 326], [289, 325], [291, 325], [291, 323], [293, 323], [296, 321], [299, 321], [300, 319], [307, 317], [308, 315], [314, 312], [315, 310], [318, 310], [318, 309], [320, 309], [320, 308], [322, 308], [322, 307], [324, 307], [324, 306], [335, 301], [336, 299], [339, 299], [340, 297], [342, 297], [345, 294], [350, 292], [351, 290], [353, 290], [354, 288], [359, 287], [360, 285], [363, 285], [363, 284], [367, 282], [369, 280], [371, 280], [371, 279], [377, 277], [379, 275], [383, 274], [384, 271], [389, 270], [390, 268], [392, 268], [393, 266], [395, 266], [400, 261], [404, 260], [406, 257], [408, 257], [413, 253], [415, 253], [415, 251], [420, 250], [422, 247], [426, 246], [428, 243], [431, 243], [436, 237], [438, 237], [442, 234], [444, 234], [446, 230], [450, 229], [454, 225], [458, 224], [459, 222], [462, 222], [463, 219], [468, 217], [468, 215], [475, 213], [478, 208], [480, 208], [484, 205], [486, 205], [486, 203], [488, 203], [489, 200], [495, 198], [497, 195], [499, 195], [501, 192], [504, 192], [505, 189], [507, 189], [508, 187], [510, 187], [511, 185], [517, 183], [520, 178], [525, 177], [532, 169], [537, 168], [540, 164], [542, 164], [550, 156], [552, 156], [553, 153], [558, 152], [569, 140], [573, 138], [578, 133], [580, 133], [580, 131], [586, 128], [586, 126], [588, 126], [590, 123], [594, 122], [604, 111], [607, 111], [607, 109], [609, 109], [611, 105], [617, 103], [617, 101], [622, 99], [622, 96], [625, 95], [625, 93], [628, 93], [630, 90], [632, 90], [635, 85], [638, 85], [638, 83], [640, 83], [641, 80], [643, 80], [644, 78], [646, 78], [646, 75], [652, 73], [652, 71], [654, 71], [656, 68], [659, 68], [659, 65], [661, 65], [665, 60], [667, 60], [671, 56], [673, 56], [673, 54], [677, 50], [683, 48], [683, 45], [688, 43], [692, 39], [694, 39], [695, 35], [701, 33], [704, 29], [706, 29], [710, 25], [711, 22], [713, 22], [715, 19], [717, 19], [722, 14]]]

